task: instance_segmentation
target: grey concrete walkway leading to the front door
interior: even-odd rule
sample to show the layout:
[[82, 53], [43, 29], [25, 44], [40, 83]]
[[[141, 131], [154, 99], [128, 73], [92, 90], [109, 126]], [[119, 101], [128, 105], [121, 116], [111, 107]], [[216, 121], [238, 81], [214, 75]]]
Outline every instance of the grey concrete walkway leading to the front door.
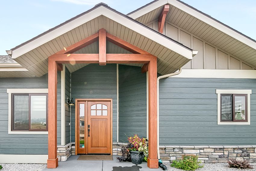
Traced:
[[135, 165], [132, 162], [119, 162], [116, 157], [114, 160], [76, 160], [79, 155], [70, 156], [67, 161], [59, 162], [56, 169], [43, 169], [43, 171], [162, 171], [162, 169], [149, 169], [146, 162]]

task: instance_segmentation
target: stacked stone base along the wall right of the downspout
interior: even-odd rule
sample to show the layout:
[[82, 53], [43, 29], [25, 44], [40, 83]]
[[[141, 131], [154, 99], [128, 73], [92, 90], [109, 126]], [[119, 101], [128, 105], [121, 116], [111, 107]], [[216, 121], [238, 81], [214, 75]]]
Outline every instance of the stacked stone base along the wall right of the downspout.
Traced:
[[202, 163], [224, 163], [227, 160], [256, 162], [256, 145], [206, 146], [173, 145], [159, 146], [160, 158], [165, 163], [181, 160], [184, 155], [197, 155]]

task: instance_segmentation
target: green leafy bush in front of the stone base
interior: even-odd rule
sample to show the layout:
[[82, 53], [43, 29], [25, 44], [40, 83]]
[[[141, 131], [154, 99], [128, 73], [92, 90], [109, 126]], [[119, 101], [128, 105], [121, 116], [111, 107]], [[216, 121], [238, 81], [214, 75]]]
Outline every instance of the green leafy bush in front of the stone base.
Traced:
[[201, 161], [197, 161], [197, 159], [198, 157], [195, 155], [185, 155], [180, 161], [174, 160], [171, 166], [183, 170], [195, 170], [202, 168], [203, 166], [200, 165]]

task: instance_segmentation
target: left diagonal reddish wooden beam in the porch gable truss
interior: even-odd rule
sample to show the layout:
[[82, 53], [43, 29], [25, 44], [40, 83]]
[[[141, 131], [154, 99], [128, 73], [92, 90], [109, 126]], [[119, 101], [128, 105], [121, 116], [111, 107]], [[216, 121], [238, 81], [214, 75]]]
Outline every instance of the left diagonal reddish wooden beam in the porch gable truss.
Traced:
[[89, 37], [86, 37], [86, 38], [74, 43], [73, 45], [66, 47], [66, 50], [65, 49], [60, 50], [56, 54], [69, 54], [69, 53], [76, 52], [79, 49], [82, 49], [83, 47], [96, 42], [98, 40], [98, 37], [99, 37], [99, 33], [97, 32]]

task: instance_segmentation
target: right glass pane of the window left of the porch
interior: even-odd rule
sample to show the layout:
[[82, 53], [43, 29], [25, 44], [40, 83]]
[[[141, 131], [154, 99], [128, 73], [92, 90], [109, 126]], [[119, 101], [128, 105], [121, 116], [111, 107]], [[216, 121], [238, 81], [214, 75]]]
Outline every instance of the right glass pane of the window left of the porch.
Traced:
[[46, 96], [30, 96], [31, 129], [46, 129]]

